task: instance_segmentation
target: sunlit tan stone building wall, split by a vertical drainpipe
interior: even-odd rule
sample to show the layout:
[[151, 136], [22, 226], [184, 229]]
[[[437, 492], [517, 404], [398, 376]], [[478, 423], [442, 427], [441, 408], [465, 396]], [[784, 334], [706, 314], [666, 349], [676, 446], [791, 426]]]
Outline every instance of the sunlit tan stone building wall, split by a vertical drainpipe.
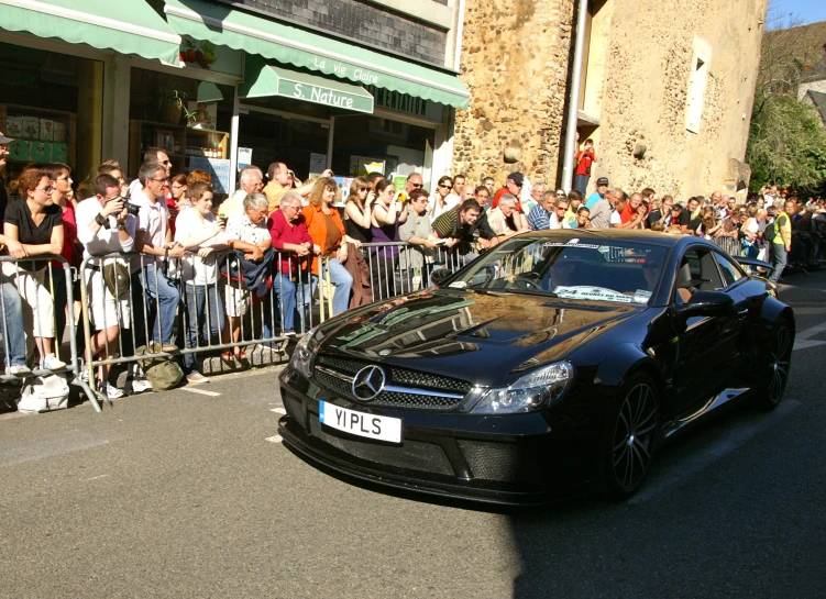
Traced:
[[[744, 164], [768, 0], [591, 0], [579, 101], [595, 177], [686, 199], [746, 192]], [[467, 0], [453, 173], [561, 181], [573, 0]]]

